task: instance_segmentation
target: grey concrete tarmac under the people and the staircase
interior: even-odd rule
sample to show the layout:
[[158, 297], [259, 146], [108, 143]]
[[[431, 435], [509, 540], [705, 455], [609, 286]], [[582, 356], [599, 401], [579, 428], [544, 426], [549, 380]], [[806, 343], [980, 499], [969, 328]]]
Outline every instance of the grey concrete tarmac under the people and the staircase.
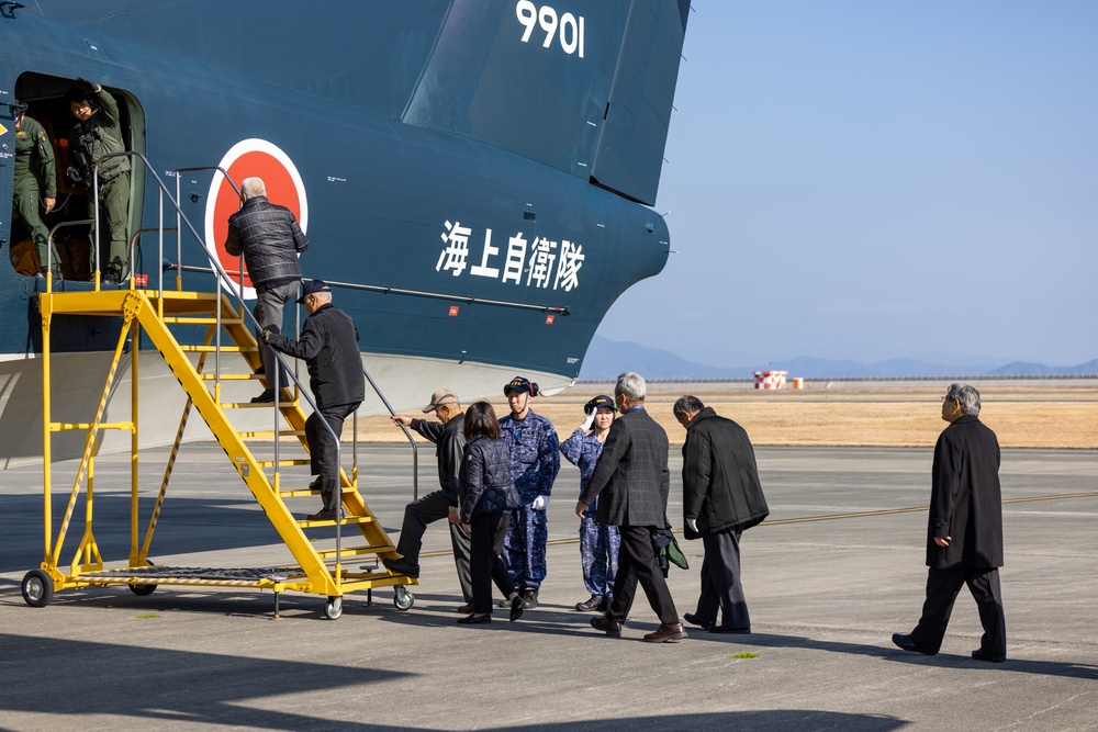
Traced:
[[[435, 484], [422, 451], [421, 493]], [[1094, 730], [1098, 728], [1098, 452], [1008, 450], [1001, 570], [1009, 658], [973, 661], [981, 628], [962, 590], [942, 652], [905, 653], [893, 632], [918, 620], [926, 583], [929, 449], [768, 448], [771, 506], [742, 541], [752, 634], [690, 628], [677, 644], [641, 635], [658, 620], [641, 594], [620, 639], [572, 606], [586, 598], [572, 510], [579, 473], [562, 465], [549, 507], [541, 607], [509, 623], [458, 626], [449, 539], [428, 528], [415, 607], [393, 593], [324, 598], [253, 589], [64, 590], [36, 609], [20, 596], [42, 559], [42, 471], [0, 487], [0, 728], [3, 730]], [[362, 492], [395, 534], [411, 497], [408, 448], [360, 451]], [[142, 455], [143, 520], [166, 450]], [[96, 465], [94, 536], [113, 566], [128, 555], [128, 459]], [[671, 452], [672, 522], [682, 523]], [[296, 473], [292, 471], [298, 471]], [[55, 527], [75, 465], [55, 466]], [[305, 469], [283, 474], [307, 482]], [[68, 487], [65, 483], [68, 483]], [[147, 487], [146, 487], [147, 486]], [[318, 506], [299, 499], [302, 514]], [[298, 508], [298, 505], [294, 506]], [[906, 510], [910, 509], [910, 510]], [[831, 517], [831, 518], [821, 518]], [[819, 520], [815, 520], [819, 519]], [[83, 530], [82, 496], [65, 562]], [[693, 611], [691, 570], [669, 579]], [[222, 450], [186, 446], [153, 542], [157, 563], [266, 566], [289, 553]]]

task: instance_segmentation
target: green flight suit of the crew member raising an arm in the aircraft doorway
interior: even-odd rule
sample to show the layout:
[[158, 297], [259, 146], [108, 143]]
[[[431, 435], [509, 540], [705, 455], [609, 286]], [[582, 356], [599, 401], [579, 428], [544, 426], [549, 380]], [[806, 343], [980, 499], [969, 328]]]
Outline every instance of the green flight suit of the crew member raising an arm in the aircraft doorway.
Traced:
[[[122, 142], [122, 124], [119, 121], [119, 104], [107, 91], [92, 94], [99, 104], [87, 122], [72, 126], [71, 147], [77, 167], [88, 187], [88, 217], [96, 218], [92, 196], [91, 169], [104, 155], [125, 151]], [[104, 160], [99, 166], [99, 240], [102, 243], [99, 268], [120, 275], [126, 272], [130, 261], [130, 158], [119, 157]], [[92, 243], [96, 229], [91, 229]], [[96, 268], [96, 250], [92, 246], [91, 268]]]

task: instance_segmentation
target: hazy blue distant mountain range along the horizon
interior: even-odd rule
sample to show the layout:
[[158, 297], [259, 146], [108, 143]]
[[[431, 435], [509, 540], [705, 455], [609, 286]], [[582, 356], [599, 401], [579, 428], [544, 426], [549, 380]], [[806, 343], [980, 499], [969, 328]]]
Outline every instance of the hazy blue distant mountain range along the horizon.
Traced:
[[630, 341], [607, 340], [595, 336], [580, 369], [580, 379], [614, 379], [623, 371], [637, 371], [646, 379], [751, 379], [752, 371], [788, 371], [789, 376], [806, 379], [896, 379], [920, 376], [1063, 376], [1098, 375], [1098, 359], [1075, 367], [1050, 367], [1043, 363], [972, 363], [945, 365], [917, 359], [889, 359], [875, 363], [833, 361], [799, 356], [785, 361], [753, 365], [714, 367], [694, 363], [671, 351], [649, 348]]

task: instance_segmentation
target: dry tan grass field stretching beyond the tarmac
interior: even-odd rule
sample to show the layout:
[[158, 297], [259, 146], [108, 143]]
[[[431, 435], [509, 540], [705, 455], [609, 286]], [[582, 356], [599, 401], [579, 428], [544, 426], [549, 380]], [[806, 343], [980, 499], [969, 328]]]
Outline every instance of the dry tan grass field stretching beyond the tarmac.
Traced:
[[[610, 388], [607, 386], [607, 388]], [[981, 419], [994, 429], [1004, 448], [1098, 449], [1098, 385], [1041, 382], [977, 385]], [[690, 391], [684, 391], [690, 390]], [[430, 390], [425, 390], [429, 392]], [[684, 430], [671, 406], [691, 393], [718, 414], [740, 423], [757, 446], [933, 447], [945, 427], [941, 420], [944, 384], [809, 386], [777, 392], [726, 384], [691, 384], [649, 388], [650, 414], [681, 444]], [[583, 421], [583, 404], [597, 391], [578, 387], [534, 399], [534, 410], [552, 420], [563, 439]], [[501, 416], [507, 403], [492, 401]], [[411, 413], [410, 413], [411, 414]], [[359, 421], [359, 437], [369, 442], [403, 439], [388, 418]]]

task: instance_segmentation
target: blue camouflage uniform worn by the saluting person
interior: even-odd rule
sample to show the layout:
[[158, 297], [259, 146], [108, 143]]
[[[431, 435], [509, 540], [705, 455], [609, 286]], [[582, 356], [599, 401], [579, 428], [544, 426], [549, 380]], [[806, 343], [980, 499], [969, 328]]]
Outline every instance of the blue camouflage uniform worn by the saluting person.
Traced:
[[[578, 428], [572, 437], [560, 443], [560, 452], [568, 462], [580, 469], [582, 495], [595, 472], [595, 463], [603, 453], [603, 443], [594, 432]], [[583, 511], [580, 519], [580, 563], [583, 566], [583, 585], [592, 597], [610, 600], [614, 576], [617, 574], [617, 554], [621, 537], [616, 526], [600, 523], [595, 518], [598, 497]]]

